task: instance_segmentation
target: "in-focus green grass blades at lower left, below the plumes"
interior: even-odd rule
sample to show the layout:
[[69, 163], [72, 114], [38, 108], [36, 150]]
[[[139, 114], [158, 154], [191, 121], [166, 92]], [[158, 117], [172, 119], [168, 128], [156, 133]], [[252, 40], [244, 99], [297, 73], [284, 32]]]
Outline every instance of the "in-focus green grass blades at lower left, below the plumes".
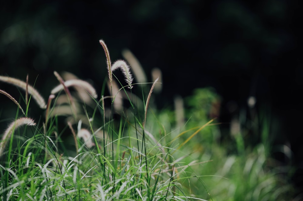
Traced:
[[[97, 104], [96, 110], [102, 112], [100, 105]], [[144, 139], [142, 126], [138, 122], [136, 130], [134, 122], [128, 121], [133, 119], [130, 116], [105, 123], [90, 122], [89, 130], [95, 131], [93, 125], [98, 125], [108, 135], [114, 135], [113, 141], [111, 137], [94, 135], [97, 146], [91, 149], [79, 139], [75, 143], [69, 138], [63, 140], [58, 116], [51, 117], [46, 128], [37, 125], [15, 130], [14, 136], [24, 136], [26, 132], [32, 133], [32, 137], [11, 137], [0, 166], [0, 196], [3, 200], [193, 199], [179, 183], [187, 177], [180, 171], [184, 163], [175, 162], [173, 149], [165, 147], [169, 144], [166, 136], [159, 138], [157, 132], [149, 130], [145, 131]], [[63, 130], [72, 133], [67, 126]], [[65, 144], [78, 147], [67, 155]]]

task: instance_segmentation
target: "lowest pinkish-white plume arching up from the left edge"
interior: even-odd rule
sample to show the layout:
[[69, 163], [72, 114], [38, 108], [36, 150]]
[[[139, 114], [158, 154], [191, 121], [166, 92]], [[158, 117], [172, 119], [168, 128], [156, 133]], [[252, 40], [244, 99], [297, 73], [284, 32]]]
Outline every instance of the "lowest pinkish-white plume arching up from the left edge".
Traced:
[[36, 125], [36, 123], [31, 118], [27, 118], [27, 117], [18, 118], [17, 120], [12, 122], [5, 130], [4, 135], [2, 137], [2, 141], [0, 143], [0, 157], [2, 156], [5, 146], [9, 138], [11, 137], [13, 131], [22, 125], [34, 126]]

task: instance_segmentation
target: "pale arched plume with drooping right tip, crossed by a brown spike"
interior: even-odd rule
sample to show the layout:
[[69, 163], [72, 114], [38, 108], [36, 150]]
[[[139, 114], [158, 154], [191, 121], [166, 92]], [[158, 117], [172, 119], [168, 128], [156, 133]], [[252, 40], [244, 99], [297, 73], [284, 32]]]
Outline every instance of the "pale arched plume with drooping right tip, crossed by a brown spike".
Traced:
[[[66, 87], [82, 87], [83, 89], [85, 89], [93, 98], [97, 98], [98, 95], [96, 93], [95, 88], [89, 84], [88, 82], [85, 82], [84, 80], [81, 79], [70, 79], [64, 82], [64, 85]], [[52, 91], [51, 94], [55, 94], [58, 93], [59, 91], [61, 91], [62, 89], [64, 89], [64, 86], [62, 84], [56, 86]], [[76, 89], [76, 88], [75, 88]]]

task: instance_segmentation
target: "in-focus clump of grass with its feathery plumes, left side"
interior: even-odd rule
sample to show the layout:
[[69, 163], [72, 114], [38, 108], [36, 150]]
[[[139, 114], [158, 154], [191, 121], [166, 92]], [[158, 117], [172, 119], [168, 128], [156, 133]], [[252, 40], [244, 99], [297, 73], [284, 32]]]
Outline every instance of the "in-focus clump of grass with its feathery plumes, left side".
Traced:
[[[189, 175], [187, 169], [200, 162], [184, 162], [186, 155], [180, 156], [180, 142], [178, 139], [172, 140], [172, 132], [159, 132], [163, 126], [158, 124], [159, 120], [149, 107], [158, 79], [150, 83], [147, 98], [142, 98], [144, 106], [139, 108], [132, 101], [132, 90], [136, 85], [132, 83], [129, 66], [122, 60], [112, 65], [104, 41], [100, 40], [100, 44], [107, 58], [110, 89], [112, 91], [115, 77], [113, 72], [120, 68], [127, 85], [118, 80], [121, 85], [118, 91], [125, 92], [131, 109], [124, 109], [119, 113], [121, 118], [114, 118], [114, 95], [101, 94], [98, 100], [92, 85], [80, 79], [65, 81], [59, 73], [54, 72], [60, 85], [52, 90], [47, 105], [42, 101], [39, 104], [46, 109], [45, 119], [36, 125], [28, 117], [16, 118], [3, 135], [0, 153], [4, 153], [5, 145], [9, 142], [10, 154], [3, 155], [1, 159], [1, 199], [204, 200], [192, 195], [191, 189], [184, 188], [180, 183], [198, 176], [195, 173]], [[25, 82], [4, 76], [0, 78], [25, 88], [34, 99], [43, 100]], [[72, 96], [68, 89], [70, 86], [85, 89], [95, 106], [88, 106], [81, 98]], [[65, 91], [67, 101], [59, 101], [61, 90]], [[105, 104], [106, 98], [111, 99], [112, 105], [109, 107]], [[18, 107], [22, 109], [20, 105]], [[72, 112], [64, 112], [64, 107]], [[56, 113], [56, 110], [60, 113]], [[61, 121], [61, 115], [65, 121]], [[17, 129], [24, 124], [34, 126], [34, 129]], [[60, 130], [62, 124], [64, 129]], [[25, 133], [28, 131], [32, 137], [22, 137], [27, 136]], [[72, 137], [64, 139], [64, 133]], [[179, 151], [173, 154], [176, 149]], [[14, 160], [11, 160], [12, 157]]]

